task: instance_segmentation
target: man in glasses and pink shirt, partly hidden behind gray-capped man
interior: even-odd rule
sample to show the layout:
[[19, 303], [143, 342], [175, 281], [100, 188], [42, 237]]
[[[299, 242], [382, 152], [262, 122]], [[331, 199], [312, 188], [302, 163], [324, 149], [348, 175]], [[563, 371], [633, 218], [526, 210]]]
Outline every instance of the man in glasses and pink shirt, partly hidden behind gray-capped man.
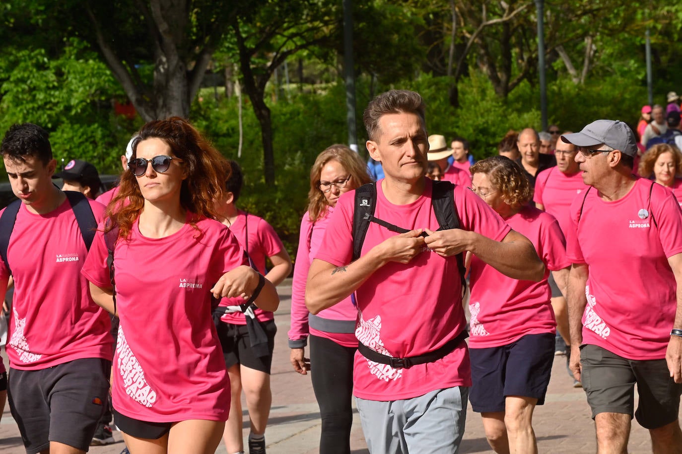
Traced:
[[[535, 180], [535, 194], [533, 201], [535, 207], [547, 211], [557, 218], [559, 227], [564, 234], [571, 228], [569, 209], [574, 198], [587, 190], [583, 183], [575, 160], [578, 149], [575, 145], [563, 140], [557, 142], [554, 156], [557, 158], [557, 166], [543, 170]], [[571, 339], [568, 333], [568, 309], [566, 306], [566, 282], [557, 282], [554, 275], [550, 275], [549, 284], [552, 288], [552, 307], [557, 316], [557, 331], [561, 337], [557, 338], [556, 354], [570, 352]], [[564, 345], [561, 345], [563, 341]], [[568, 361], [568, 358], [567, 358]], [[571, 376], [573, 374], [571, 373]], [[574, 379], [575, 380], [575, 379]], [[574, 381], [574, 387], [580, 387], [578, 380]]]

